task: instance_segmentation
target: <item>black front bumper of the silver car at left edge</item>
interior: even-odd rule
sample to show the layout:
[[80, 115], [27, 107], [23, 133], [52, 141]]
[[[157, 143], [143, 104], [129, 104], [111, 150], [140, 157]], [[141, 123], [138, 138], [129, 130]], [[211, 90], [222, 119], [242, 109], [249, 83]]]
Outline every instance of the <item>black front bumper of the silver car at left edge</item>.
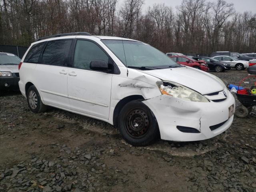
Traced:
[[18, 90], [20, 78], [15, 74], [11, 77], [0, 77], [0, 90]]

